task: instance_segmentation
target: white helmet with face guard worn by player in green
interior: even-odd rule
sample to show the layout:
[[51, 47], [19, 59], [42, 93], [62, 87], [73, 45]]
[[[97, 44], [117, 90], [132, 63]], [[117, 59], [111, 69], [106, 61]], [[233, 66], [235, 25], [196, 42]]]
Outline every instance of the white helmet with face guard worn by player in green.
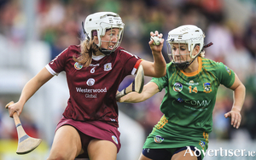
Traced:
[[[199, 27], [193, 25], [179, 26], [173, 29], [172, 31], [169, 31], [166, 40], [167, 52], [171, 60], [173, 60], [173, 63], [181, 69], [185, 69], [186, 67], [188, 67], [195, 60], [195, 57], [201, 54], [201, 51], [204, 46], [204, 37], [205, 35], [203, 31], [201, 31]], [[188, 44], [190, 60], [186, 60], [185, 62], [175, 61], [174, 55], [172, 54], [172, 43]], [[200, 50], [198, 54], [193, 55], [193, 49], [195, 48], [196, 44], [200, 44]]]

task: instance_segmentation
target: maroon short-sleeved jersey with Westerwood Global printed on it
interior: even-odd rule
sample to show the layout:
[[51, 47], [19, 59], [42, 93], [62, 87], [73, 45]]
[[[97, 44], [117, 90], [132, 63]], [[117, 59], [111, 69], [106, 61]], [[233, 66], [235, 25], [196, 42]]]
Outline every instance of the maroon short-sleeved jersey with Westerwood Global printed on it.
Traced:
[[125, 76], [137, 71], [141, 59], [119, 47], [108, 56], [93, 56], [90, 66], [84, 67], [73, 60], [79, 54], [79, 45], [69, 46], [45, 66], [52, 75], [66, 71], [70, 97], [63, 116], [118, 127], [115, 94]]

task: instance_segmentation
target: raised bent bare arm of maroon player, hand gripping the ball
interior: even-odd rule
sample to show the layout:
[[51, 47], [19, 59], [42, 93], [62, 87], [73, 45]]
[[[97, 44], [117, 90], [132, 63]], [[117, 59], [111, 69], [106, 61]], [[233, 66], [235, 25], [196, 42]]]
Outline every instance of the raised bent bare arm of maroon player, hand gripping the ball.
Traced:
[[[150, 36], [159, 36], [163, 37], [162, 34], [159, 34], [158, 31], [150, 32]], [[154, 45], [154, 41], [149, 41], [150, 49], [152, 50], [154, 62], [143, 60], [141, 64], [144, 68], [145, 76], [149, 77], [164, 77], [166, 76], [166, 60], [162, 54], [162, 48], [164, 44], [164, 39], [161, 40], [160, 45]]]

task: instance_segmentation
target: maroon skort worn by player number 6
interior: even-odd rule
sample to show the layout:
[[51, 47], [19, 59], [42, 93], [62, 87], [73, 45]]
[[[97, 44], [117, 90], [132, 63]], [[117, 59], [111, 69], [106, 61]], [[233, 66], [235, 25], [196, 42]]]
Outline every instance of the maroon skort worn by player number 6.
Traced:
[[63, 125], [71, 125], [78, 130], [82, 148], [84, 150], [84, 153], [79, 155], [80, 158], [88, 158], [87, 146], [89, 145], [90, 140], [93, 139], [111, 141], [117, 147], [117, 152], [119, 152], [121, 147], [119, 130], [108, 123], [103, 123], [101, 121], [81, 122], [62, 117], [57, 124], [55, 131]]

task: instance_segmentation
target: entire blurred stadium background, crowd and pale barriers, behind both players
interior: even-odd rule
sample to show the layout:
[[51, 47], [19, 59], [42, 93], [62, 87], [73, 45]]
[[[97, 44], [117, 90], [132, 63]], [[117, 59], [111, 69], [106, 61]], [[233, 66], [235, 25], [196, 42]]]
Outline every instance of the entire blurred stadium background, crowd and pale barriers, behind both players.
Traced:
[[[43, 143], [31, 153], [15, 154], [15, 124], [4, 106], [17, 101], [25, 83], [68, 45], [83, 38], [81, 22], [98, 11], [118, 13], [125, 23], [121, 46], [152, 60], [149, 31], [166, 39], [173, 28], [193, 24], [206, 33], [206, 57], [224, 62], [247, 87], [240, 129], [232, 129], [224, 113], [230, 111], [232, 92], [220, 87], [213, 111], [211, 149], [256, 151], [256, 1], [255, 0], [0, 0], [0, 160], [40, 160], [49, 155], [55, 125], [67, 104], [65, 73], [52, 78], [28, 100], [20, 116], [26, 133]], [[163, 54], [166, 62], [166, 43]], [[119, 89], [131, 83], [126, 77]], [[151, 78], [146, 77], [147, 83]], [[119, 160], [137, 159], [145, 137], [161, 117], [164, 92], [137, 104], [119, 104], [122, 148]], [[255, 159], [256, 157], [206, 157]]]

